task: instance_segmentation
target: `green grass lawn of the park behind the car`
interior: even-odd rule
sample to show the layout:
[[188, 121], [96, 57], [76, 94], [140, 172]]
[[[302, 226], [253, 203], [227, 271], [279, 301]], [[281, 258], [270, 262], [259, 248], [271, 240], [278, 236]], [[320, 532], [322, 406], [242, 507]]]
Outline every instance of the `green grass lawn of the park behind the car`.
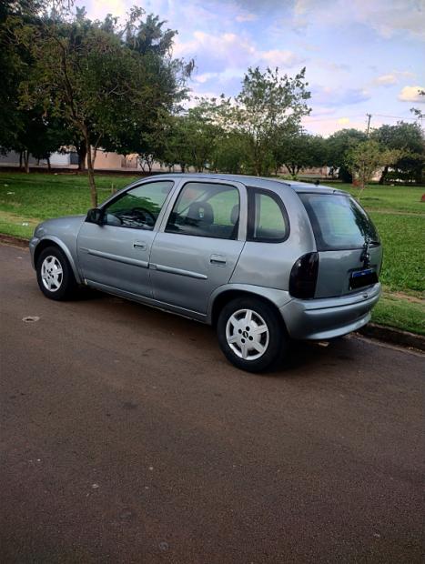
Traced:
[[[135, 177], [96, 176], [99, 201]], [[358, 196], [350, 185], [334, 185]], [[425, 335], [425, 203], [423, 187], [369, 186], [361, 204], [378, 227], [384, 247], [380, 280], [385, 295], [373, 321]], [[48, 217], [84, 214], [90, 207], [86, 176], [0, 172], [0, 233], [31, 237]]]

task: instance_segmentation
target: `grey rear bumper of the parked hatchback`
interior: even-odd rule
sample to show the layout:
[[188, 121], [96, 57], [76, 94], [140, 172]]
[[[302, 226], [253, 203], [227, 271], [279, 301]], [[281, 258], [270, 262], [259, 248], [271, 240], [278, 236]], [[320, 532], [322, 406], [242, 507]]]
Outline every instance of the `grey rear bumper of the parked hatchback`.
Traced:
[[328, 339], [346, 335], [366, 325], [378, 302], [380, 284], [344, 297], [292, 299], [280, 308], [290, 337]]

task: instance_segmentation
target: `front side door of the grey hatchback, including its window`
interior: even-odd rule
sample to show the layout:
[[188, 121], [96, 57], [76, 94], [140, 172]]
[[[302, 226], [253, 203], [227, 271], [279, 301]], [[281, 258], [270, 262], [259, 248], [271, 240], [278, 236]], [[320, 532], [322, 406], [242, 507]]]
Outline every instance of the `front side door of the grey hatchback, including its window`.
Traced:
[[89, 285], [152, 297], [149, 255], [159, 214], [173, 184], [158, 180], [133, 187], [102, 208], [102, 225], [83, 224], [77, 252]]

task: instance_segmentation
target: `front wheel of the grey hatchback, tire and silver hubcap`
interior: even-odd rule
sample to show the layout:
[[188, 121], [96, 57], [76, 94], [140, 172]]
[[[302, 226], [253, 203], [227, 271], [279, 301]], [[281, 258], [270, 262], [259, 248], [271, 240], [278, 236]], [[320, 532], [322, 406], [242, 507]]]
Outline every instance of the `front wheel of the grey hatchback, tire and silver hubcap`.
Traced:
[[43, 294], [57, 301], [70, 299], [76, 292], [76, 277], [59, 247], [46, 247], [35, 266], [37, 282]]

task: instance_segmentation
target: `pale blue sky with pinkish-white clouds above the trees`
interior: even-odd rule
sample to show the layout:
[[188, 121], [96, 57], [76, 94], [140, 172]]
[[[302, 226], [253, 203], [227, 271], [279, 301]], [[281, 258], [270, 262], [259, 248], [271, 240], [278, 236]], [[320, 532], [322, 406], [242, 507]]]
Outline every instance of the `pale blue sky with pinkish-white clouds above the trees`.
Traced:
[[173, 54], [195, 59], [192, 96], [236, 96], [249, 66], [306, 67], [310, 133], [413, 121], [425, 112], [425, 0], [77, 0], [92, 19], [132, 5], [178, 32]]

